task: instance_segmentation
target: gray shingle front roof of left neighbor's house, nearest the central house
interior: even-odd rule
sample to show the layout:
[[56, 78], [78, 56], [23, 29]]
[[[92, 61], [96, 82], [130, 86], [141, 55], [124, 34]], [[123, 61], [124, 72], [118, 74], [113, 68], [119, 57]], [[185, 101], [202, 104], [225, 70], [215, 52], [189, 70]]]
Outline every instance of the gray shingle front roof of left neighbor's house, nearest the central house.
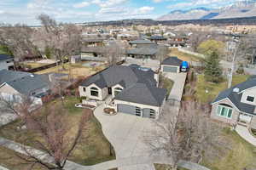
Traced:
[[49, 84], [44, 82], [40, 75], [22, 77], [12, 82], [7, 82], [9, 86], [15, 88], [20, 94], [30, 95], [33, 91], [49, 88]]

